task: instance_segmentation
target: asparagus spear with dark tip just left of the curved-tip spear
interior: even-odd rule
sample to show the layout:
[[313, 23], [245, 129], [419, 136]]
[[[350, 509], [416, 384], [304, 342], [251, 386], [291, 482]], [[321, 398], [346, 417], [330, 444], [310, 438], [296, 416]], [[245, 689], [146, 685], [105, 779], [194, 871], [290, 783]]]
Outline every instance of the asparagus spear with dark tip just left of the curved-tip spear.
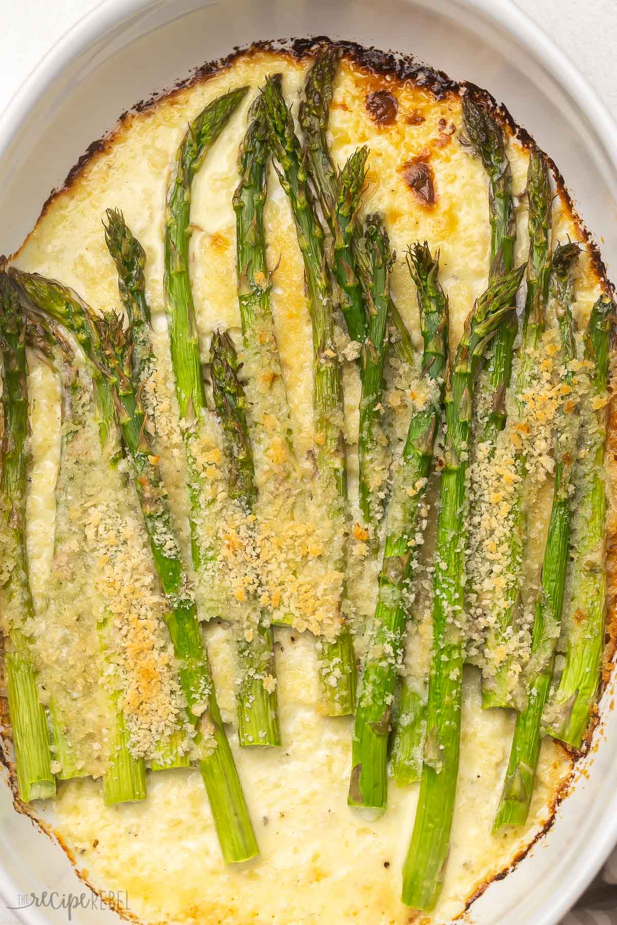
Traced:
[[[145, 294], [145, 251], [130, 230], [119, 209], [106, 209], [105, 243], [116, 264], [117, 287], [129, 319], [133, 349], [130, 355], [132, 374], [141, 388], [154, 373], [156, 357], [151, 337], [151, 313]], [[161, 743], [161, 760], [151, 760], [153, 771], [186, 768], [188, 755], [180, 747], [182, 732], [178, 730], [166, 743]]]

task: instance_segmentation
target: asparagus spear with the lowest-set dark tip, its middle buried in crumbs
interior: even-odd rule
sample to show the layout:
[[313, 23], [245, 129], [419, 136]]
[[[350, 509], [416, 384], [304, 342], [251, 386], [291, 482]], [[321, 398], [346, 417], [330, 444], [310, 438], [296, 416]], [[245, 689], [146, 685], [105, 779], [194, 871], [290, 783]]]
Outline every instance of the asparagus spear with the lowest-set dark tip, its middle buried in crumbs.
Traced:
[[[216, 412], [226, 438], [229, 497], [240, 499], [245, 510], [252, 512], [257, 492], [246, 401], [238, 379], [240, 365], [229, 335], [215, 332], [210, 346], [210, 368]], [[244, 746], [279, 746], [272, 627], [257, 619], [251, 633], [250, 641], [244, 638], [239, 643], [242, 671], [238, 735]]]

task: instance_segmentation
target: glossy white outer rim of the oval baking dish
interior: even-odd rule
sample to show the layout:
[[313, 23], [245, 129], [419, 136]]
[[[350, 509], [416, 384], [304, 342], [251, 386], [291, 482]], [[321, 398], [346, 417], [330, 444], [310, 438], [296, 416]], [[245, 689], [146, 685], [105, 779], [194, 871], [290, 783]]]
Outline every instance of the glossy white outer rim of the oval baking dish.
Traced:
[[[420, 3], [422, 2], [423, 0], [420, 0]], [[559, 81], [561, 89], [586, 116], [602, 142], [604, 153], [612, 167], [611, 184], [617, 190], [617, 121], [586, 77], [559, 45], [512, 0], [501, 0], [499, 4], [494, 0], [451, 0], [451, 3], [455, 7], [475, 12], [491, 25], [507, 31], [553, 79]], [[0, 112], [0, 158], [18, 137], [19, 130], [31, 109], [76, 58], [118, 23], [154, 6], [159, 6], [159, 0], [101, 0], [65, 31], [41, 61], [31, 69]], [[596, 833], [593, 843], [586, 844], [585, 855], [581, 856], [574, 866], [572, 876], [562, 886], [560, 894], [555, 897], [550, 907], [538, 911], [534, 925], [557, 925], [609, 856], [617, 843], [617, 791], [605, 805], [605, 818], [606, 823]], [[17, 894], [17, 884], [0, 864], [0, 896], [9, 902]], [[28, 925], [47, 925], [48, 919], [36, 907], [12, 911], [18, 919]]]

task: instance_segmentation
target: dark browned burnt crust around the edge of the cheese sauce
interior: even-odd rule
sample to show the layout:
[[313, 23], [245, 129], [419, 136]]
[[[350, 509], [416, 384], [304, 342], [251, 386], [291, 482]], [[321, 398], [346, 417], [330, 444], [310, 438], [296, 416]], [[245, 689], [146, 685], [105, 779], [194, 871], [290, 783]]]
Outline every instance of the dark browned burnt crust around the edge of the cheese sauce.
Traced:
[[[394, 79], [400, 83], [411, 80], [416, 86], [423, 87], [432, 93], [436, 100], [441, 100], [450, 94], [461, 96], [463, 93], [473, 93], [475, 101], [480, 105], [483, 105], [491, 114], [491, 116], [494, 117], [500, 123], [501, 127], [509, 134], [511, 134], [513, 138], [516, 138], [527, 149], [536, 148], [537, 150], [540, 150], [537, 148], [537, 144], [529, 132], [524, 129], [523, 126], [520, 126], [517, 122], [515, 122], [507, 106], [504, 103], [498, 103], [492, 93], [489, 93], [487, 90], [478, 87], [475, 83], [472, 83], [468, 80], [462, 80], [460, 82], [451, 80], [444, 71], [432, 68], [429, 65], [426, 65], [423, 62], [417, 60], [412, 55], [403, 55], [401, 53], [392, 51], [385, 52], [375, 48], [374, 46], [366, 47], [352, 41], [332, 41], [327, 35], [316, 35], [306, 38], [261, 40], [248, 46], [235, 46], [229, 55], [220, 57], [214, 61], [206, 62], [203, 65], [194, 68], [188, 77], [177, 80], [172, 87], [167, 88], [166, 90], [154, 92], [147, 99], [140, 100], [129, 110], [121, 113], [121, 115], [118, 117], [116, 126], [106, 132], [105, 135], [103, 135], [101, 138], [92, 142], [86, 151], [81, 154], [77, 163], [68, 171], [67, 178], [65, 179], [63, 185], [59, 189], [55, 189], [50, 192], [49, 196], [43, 203], [41, 214], [37, 219], [34, 227], [36, 228], [36, 225], [38, 225], [38, 222], [41, 220], [41, 218], [43, 218], [51, 203], [53, 203], [56, 199], [56, 196], [59, 196], [64, 191], [68, 191], [68, 188], [71, 186], [71, 184], [80, 177], [85, 167], [89, 165], [89, 163], [96, 157], [96, 155], [105, 152], [107, 147], [114, 141], [118, 131], [122, 129], [124, 123], [131, 116], [147, 113], [148, 111], [154, 109], [154, 107], [163, 100], [171, 99], [176, 94], [190, 89], [198, 83], [203, 83], [206, 80], [215, 77], [221, 71], [231, 68], [233, 64], [243, 56], [252, 56], [260, 52], [267, 52], [271, 54], [288, 56], [296, 61], [304, 61], [307, 58], [314, 57], [316, 54], [323, 51], [327, 47], [339, 49], [341, 56], [351, 60], [359, 68], [364, 68], [367, 75], [373, 75], [377, 78], [381, 77], [388, 80]], [[591, 265], [593, 266], [598, 276], [598, 282], [602, 286], [603, 290], [607, 291], [609, 294], [613, 294], [615, 288], [607, 276], [606, 266], [602, 260], [597, 241], [586, 228], [584, 221], [578, 214], [573, 197], [565, 184], [565, 180], [561, 175], [559, 167], [556, 165], [552, 157], [549, 156], [549, 154], [546, 154], [546, 152], [541, 153], [543, 154], [546, 163], [549, 166], [549, 170], [555, 182], [556, 192], [563, 198], [563, 201], [565, 202], [568, 211], [574, 220], [574, 224], [581, 238], [586, 243]], [[12, 257], [19, 253], [25, 241], [28, 240], [29, 237], [30, 234], [19, 246], [18, 251], [15, 254], [12, 254]], [[609, 388], [611, 388], [611, 384]], [[615, 461], [617, 461], [617, 394], [615, 394], [611, 400], [607, 427], [607, 449], [613, 454]], [[615, 665], [615, 652], [617, 651], [617, 530], [607, 533], [606, 545], [608, 599], [605, 648], [601, 663], [598, 701], [600, 697], [602, 697], [611, 679], [611, 673]], [[2, 654], [3, 653], [0, 650], [0, 661], [2, 660]], [[2, 694], [3, 691], [0, 690], [0, 745], [2, 746], [0, 747], [0, 764], [3, 765], [8, 771], [8, 783], [13, 795], [13, 805], [18, 812], [28, 816], [36, 828], [38, 828], [42, 833], [48, 835], [52, 841], [56, 842], [56, 844], [62, 848], [62, 850], [66, 853], [71, 865], [73, 866], [77, 876], [80, 878], [80, 881], [88, 886], [94, 894], [100, 896], [97, 889], [91, 882], [88, 881], [88, 879], [76, 866], [76, 858], [74, 857], [73, 852], [68, 847], [68, 845], [63, 842], [63, 840], [56, 834], [51, 826], [48, 826], [43, 822], [43, 820], [39, 819], [35, 815], [34, 811], [22, 803], [19, 799], [15, 781], [15, 769], [13, 763], [8, 758], [8, 750], [10, 748], [10, 725], [8, 723], [7, 709], [5, 708], [6, 701], [4, 701]], [[568, 796], [571, 791], [572, 785], [574, 783], [574, 774], [576, 771], [577, 763], [581, 759], [585, 758], [591, 750], [592, 742], [596, 738], [595, 732], [599, 723], [600, 717], [598, 714], [598, 709], [596, 708], [594, 715], [590, 718], [585, 742], [580, 749], [570, 748], [558, 740], [554, 740], [556, 741], [557, 745], [560, 746], [563, 753], [572, 760], [573, 766], [572, 771], [570, 771], [568, 776], [561, 782], [560, 787], [558, 788], [556, 794], [553, 796], [553, 799], [549, 805], [549, 818], [542, 824], [539, 832], [536, 833], [529, 845], [526, 845], [526, 847], [522, 848], [521, 851], [512, 858], [506, 867], [487, 877], [484, 882], [479, 883], [475, 887], [474, 892], [467, 898], [463, 911], [459, 913], [458, 916], [456, 916], [455, 920], [460, 920], [464, 915], [466, 915], [466, 913], [474, 904], [475, 900], [487, 891], [487, 888], [492, 882], [504, 880], [509, 873], [512, 873], [512, 870], [514, 870], [521, 863], [521, 861], [524, 860], [524, 857], [529, 854], [534, 845], [537, 845], [537, 843], [544, 837], [544, 835], [549, 832], [549, 829], [552, 828], [555, 823], [556, 813], [561, 805], [561, 802], [565, 799], [566, 796]], [[136, 923], [140, 922], [140, 919], [137, 919], [137, 917], [132, 915], [132, 913], [128, 912], [127, 910], [120, 908], [115, 909], [115, 911], [121, 919], [130, 920]]]

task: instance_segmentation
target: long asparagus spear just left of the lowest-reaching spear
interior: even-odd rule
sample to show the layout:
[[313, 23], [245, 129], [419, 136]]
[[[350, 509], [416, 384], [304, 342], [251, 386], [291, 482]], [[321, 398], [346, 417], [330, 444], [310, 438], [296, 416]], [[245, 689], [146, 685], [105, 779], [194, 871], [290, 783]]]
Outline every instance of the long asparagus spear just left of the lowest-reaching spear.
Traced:
[[410, 256], [425, 342], [422, 372], [431, 384], [430, 399], [422, 411], [413, 414], [389, 503], [375, 623], [355, 714], [348, 796], [351, 806], [381, 810], [387, 805], [390, 715], [407, 619], [404, 593], [416, 564], [411, 544], [423, 510], [441, 417], [441, 383], [448, 351], [448, 300], [438, 282], [438, 254], [433, 258], [425, 242], [424, 246], [416, 244]]

